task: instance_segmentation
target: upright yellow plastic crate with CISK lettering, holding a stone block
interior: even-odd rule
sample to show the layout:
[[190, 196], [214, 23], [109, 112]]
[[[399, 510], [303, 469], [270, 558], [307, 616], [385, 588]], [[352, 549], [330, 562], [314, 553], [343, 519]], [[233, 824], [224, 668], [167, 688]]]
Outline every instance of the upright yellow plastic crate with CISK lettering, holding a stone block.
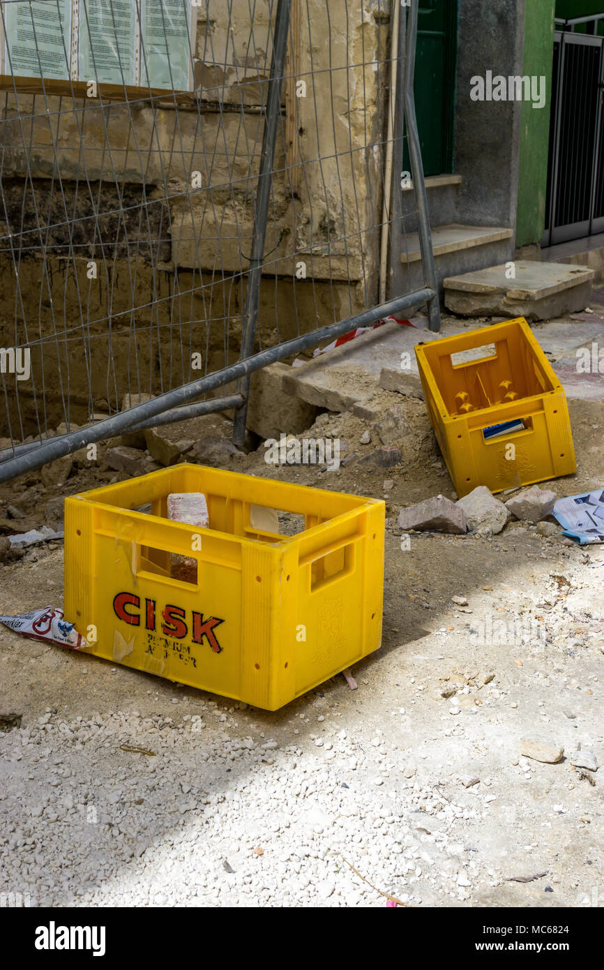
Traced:
[[[175, 492], [206, 495], [209, 529], [166, 518]], [[302, 531], [258, 528], [267, 508]], [[383, 501], [195, 465], [95, 489], [65, 500], [65, 614], [97, 657], [276, 710], [379, 647], [384, 516]], [[174, 554], [197, 562], [191, 582]]]

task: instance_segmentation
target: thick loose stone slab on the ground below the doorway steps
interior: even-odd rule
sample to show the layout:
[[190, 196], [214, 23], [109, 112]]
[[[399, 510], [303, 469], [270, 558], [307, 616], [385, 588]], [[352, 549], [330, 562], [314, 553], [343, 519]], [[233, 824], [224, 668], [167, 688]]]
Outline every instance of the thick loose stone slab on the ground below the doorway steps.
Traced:
[[593, 270], [587, 266], [519, 260], [515, 277], [501, 264], [449, 276], [443, 281], [445, 306], [466, 316], [502, 313], [547, 320], [588, 306]]

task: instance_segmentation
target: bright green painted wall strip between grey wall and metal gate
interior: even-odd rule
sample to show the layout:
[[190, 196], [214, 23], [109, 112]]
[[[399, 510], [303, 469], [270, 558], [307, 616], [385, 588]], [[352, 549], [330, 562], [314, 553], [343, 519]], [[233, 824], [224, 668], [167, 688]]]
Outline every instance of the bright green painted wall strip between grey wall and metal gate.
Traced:
[[555, 0], [529, 0], [526, 4], [523, 74], [538, 78], [545, 75], [547, 102], [541, 109], [533, 108], [529, 101], [523, 102], [516, 219], [517, 246], [539, 242], [545, 228], [554, 55], [554, 7]]

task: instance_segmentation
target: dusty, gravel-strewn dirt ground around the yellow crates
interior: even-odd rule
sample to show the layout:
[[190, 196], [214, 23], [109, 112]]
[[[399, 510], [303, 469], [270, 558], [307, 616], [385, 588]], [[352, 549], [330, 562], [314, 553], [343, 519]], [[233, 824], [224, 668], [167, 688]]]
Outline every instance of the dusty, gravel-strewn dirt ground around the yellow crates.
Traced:
[[[559, 497], [604, 484], [604, 404], [569, 407], [578, 471], [543, 485]], [[383, 645], [354, 668], [357, 691], [338, 675], [266, 713], [0, 628], [0, 711], [22, 717], [20, 728], [0, 735], [0, 844], [10, 850], [0, 891], [28, 893], [32, 905], [383, 906], [378, 889], [422, 906], [604, 904], [603, 769], [575, 768], [568, 757], [581, 748], [604, 760], [604, 549], [568, 546], [560, 534], [547, 538], [519, 522], [492, 538], [412, 533], [407, 547], [398, 509], [438, 493], [455, 498], [422, 402], [408, 405], [407, 420], [394, 468], [376, 464], [375, 441], [361, 443], [367, 422], [350, 413], [321, 415], [307, 433], [337, 437], [342, 457], [355, 456], [345, 467], [270, 465], [262, 444], [219, 463], [386, 501]], [[222, 422], [207, 423], [206, 433], [224, 432]], [[65, 485], [47, 487], [32, 474], [0, 490], [0, 525], [5, 533], [40, 526], [50, 499], [115, 477], [127, 476], [75, 467]], [[0, 612], [61, 605], [62, 569], [60, 542], [7, 563]], [[205, 729], [187, 733], [200, 717]], [[100, 733], [81, 736], [82, 722]], [[29, 744], [21, 746], [25, 728]], [[231, 772], [221, 749], [238, 751], [241, 738], [259, 755], [243, 770], [233, 754]], [[563, 747], [566, 757], [525, 759], [523, 738]], [[147, 785], [151, 759], [123, 743], [156, 750], [161, 783]], [[288, 770], [317, 777], [314, 787], [288, 794], [292, 818], [302, 825], [310, 811], [319, 819], [302, 847], [289, 822], [271, 824]], [[55, 773], [60, 785], [49, 789]], [[102, 784], [93, 797], [94, 776]], [[115, 822], [115, 801], [112, 809], [104, 802], [104, 785], [116, 778], [120, 819], [130, 828]], [[273, 791], [271, 779], [272, 814], [254, 790]], [[70, 784], [71, 803], [61, 809], [53, 792]], [[191, 789], [196, 796], [183, 805], [180, 792]], [[256, 800], [246, 821], [250, 789]], [[342, 807], [346, 798], [356, 809]], [[215, 812], [225, 799], [223, 831]], [[162, 826], [169, 801], [175, 815]], [[81, 805], [98, 808], [98, 824], [73, 821]], [[187, 826], [197, 868], [184, 888], [166, 860], [172, 852], [189, 864], [181, 853]], [[127, 851], [120, 843], [116, 852], [122, 836]], [[43, 875], [37, 861], [47, 842]], [[92, 874], [83, 857], [96, 860]]]

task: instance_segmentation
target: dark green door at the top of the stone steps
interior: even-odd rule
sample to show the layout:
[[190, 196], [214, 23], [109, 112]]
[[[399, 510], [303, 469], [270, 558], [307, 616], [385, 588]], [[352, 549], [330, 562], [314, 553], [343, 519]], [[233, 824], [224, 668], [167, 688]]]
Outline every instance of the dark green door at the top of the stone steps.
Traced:
[[457, 27], [458, 0], [420, 0], [414, 89], [427, 176], [453, 171]]

